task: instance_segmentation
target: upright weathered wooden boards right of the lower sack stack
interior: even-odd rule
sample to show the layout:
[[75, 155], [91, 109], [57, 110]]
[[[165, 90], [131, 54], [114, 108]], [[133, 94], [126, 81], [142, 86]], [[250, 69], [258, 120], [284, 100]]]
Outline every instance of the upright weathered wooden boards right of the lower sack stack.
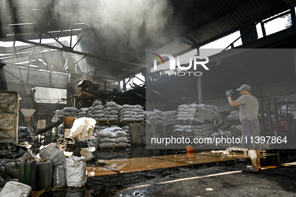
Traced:
[[131, 130], [131, 145], [145, 145], [146, 144], [145, 124], [130, 123], [130, 130]]

